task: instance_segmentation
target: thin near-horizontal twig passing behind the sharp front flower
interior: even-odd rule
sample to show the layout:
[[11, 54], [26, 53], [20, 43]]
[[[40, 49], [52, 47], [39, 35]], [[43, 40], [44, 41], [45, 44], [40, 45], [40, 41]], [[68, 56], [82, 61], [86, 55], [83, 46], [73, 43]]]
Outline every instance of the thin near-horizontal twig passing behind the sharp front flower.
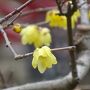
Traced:
[[[75, 46], [69, 46], [69, 47], [63, 47], [63, 48], [54, 48], [54, 49], [51, 49], [51, 51], [54, 52], [54, 51], [62, 51], [62, 50], [74, 50], [75, 48], [76, 48]], [[26, 53], [23, 55], [18, 55], [15, 57], [15, 60], [19, 60], [19, 59], [28, 57], [30, 55], [33, 55], [33, 52]]]

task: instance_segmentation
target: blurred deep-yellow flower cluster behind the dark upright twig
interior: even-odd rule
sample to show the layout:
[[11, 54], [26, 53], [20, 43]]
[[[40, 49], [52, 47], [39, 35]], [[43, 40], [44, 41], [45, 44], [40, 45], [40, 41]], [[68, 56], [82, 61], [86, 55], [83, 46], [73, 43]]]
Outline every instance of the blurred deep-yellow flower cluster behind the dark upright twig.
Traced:
[[[48, 11], [46, 14], [46, 22], [49, 22], [51, 27], [60, 27], [67, 29], [67, 19], [65, 16], [57, 15], [59, 13], [58, 10], [51, 10]], [[72, 28], [75, 28], [75, 24], [80, 17], [80, 12], [77, 10], [74, 15], [72, 16]]]

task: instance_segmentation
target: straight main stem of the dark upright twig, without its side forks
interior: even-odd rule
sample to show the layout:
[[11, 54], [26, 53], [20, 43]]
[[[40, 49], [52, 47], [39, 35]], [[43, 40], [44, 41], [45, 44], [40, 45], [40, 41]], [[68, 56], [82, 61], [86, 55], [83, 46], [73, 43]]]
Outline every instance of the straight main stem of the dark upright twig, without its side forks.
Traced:
[[[67, 33], [68, 33], [68, 45], [73, 45], [73, 36], [72, 36], [72, 22], [71, 22], [71, 16], [70, 14], [72, 12], [70, 4], [68, 5], [68, 13], [67, 13]], [[72, 76], [74, 79], [77, 79], [77, 69], [76, 69], [76, 61], [75, 61], [75, 51], [70, 51], [70, 57], [71, 57], [71, 70], [72, 70]]]

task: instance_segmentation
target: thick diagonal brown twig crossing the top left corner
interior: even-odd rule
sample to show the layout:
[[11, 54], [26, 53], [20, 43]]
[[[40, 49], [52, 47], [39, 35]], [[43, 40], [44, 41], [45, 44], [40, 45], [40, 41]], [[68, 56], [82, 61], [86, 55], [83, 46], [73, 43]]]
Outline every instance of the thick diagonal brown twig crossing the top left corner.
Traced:
[[5, 17], [3, 17], [0, 20], [0, 24], [2, 24], [4, 21], [8, 20], [9, 18], [11, 18], [12, 16], [14, 16], [15, 14], [19, 13], [22, 9], [24, 9], [32, 0], [28, 0], [27, 2], [25, 2], [23, 5], [21, 5], [20, 7], [18, 7], [17, 9], [15, 9], [14, 11], [12, 11], [11, 13], [9, 13], [8, 15], [6, 15]]

